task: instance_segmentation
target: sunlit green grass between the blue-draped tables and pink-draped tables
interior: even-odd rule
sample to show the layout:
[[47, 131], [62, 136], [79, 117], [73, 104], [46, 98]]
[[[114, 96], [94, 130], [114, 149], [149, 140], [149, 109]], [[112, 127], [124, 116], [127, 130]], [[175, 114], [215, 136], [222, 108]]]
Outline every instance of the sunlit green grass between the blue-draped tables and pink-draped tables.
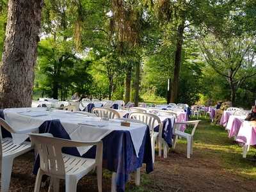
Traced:
[[224, 127], [210, 124], [209, 120], [203, 119], [196, 130], [194, 146], [201, 149], [202, 155], [220, 159], [223, 168], [229, 172], [256, 179], [256, 161], [252, 161], [256, 154], [255, 148], [251, 147], [244, 159], [241, 145], [233, 138], [228, 138]]

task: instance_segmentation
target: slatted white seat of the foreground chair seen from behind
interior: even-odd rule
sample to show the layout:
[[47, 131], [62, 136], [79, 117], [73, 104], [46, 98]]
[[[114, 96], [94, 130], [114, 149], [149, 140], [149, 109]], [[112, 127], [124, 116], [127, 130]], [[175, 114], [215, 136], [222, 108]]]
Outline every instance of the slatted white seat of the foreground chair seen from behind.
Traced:
[[81, 175], [83, 177], [96, 166], [95, 159], [70, 156], [68, 154], [62, 154], [62, 156], [66, 175]]

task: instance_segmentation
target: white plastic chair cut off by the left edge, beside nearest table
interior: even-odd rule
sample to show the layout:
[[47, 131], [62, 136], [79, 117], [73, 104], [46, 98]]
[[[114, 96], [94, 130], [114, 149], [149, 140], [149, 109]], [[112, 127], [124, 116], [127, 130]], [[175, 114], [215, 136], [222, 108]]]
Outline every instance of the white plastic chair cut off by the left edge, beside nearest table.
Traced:
[[[36, 131], [35, 129], [26, 129], [25, 131], [14, 131], [12, 127], [3, 118], [0, 118], [0, 125], [7, 131], [15, 134], [24, 134]], [[1, 130], [0, 130], [1, 134]], [[8, 192], [10, 187], [10, 179], [12, 174], [13, 160], [26, 152], [29, 152], [33, 147], [28, 141], [16, 145], [13, 143], [12, 138], [2, 138], [0, 136], [0, 159], [1, 159], [1, 192]]]

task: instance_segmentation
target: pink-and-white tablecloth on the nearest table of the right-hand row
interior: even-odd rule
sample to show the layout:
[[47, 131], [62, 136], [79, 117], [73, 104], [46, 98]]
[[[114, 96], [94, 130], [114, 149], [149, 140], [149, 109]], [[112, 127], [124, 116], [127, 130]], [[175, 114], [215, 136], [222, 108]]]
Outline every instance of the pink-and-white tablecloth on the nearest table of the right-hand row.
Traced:
[[244, 121], [238, 131], [236, 141], [245, 145], [256, 145], [256, 126]]

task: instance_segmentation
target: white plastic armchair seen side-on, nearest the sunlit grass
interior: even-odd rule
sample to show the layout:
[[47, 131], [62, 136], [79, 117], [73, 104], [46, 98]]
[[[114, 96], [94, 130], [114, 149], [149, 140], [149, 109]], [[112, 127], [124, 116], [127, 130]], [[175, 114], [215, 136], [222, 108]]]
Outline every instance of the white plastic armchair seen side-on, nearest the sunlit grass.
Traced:
[[[175, 146], [176, 146], [178, 137], [186, 138], [186, 140], [188, 142], [188, 147], [187, 147], [187, 157], [188, 158], [190, 158], [190, 155], [193, 154], [193, 138], [194, 138], [194, 134], [196, 131], [196, 127], [199, 122], [200, 122], [200, 120], [180, 122], [180, 123], [175, 123], [173, 126], [173, 135], [174, 135], [173, 148], [175, 148]], [[180, 131], [180, 127], [182, 125], [194, 125], [191, 134]]]

